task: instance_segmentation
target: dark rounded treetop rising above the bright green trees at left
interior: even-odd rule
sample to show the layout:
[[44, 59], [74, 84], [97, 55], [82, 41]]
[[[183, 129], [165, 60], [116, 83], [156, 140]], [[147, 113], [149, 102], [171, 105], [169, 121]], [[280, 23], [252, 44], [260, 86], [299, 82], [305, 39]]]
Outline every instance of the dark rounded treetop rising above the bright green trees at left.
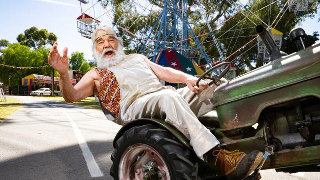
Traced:
[[18, 35], [17, 40], [20, 44], [29, 46], [33, 50], [40, 47], [52, 46], [57, 41], [57, 36], [53, 32], [42, 29], [38, 30], [36, 27], [31, 27], [25, 30], [25, 33]]

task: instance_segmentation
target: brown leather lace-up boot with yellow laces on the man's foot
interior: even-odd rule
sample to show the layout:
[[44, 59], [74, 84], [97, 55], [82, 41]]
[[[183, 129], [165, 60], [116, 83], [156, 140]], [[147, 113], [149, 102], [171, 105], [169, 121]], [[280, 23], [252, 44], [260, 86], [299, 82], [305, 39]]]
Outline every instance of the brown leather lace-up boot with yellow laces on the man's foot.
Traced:
[[249, 154], [239, 150], [214, 150], [214, 163], [227, 180], [243, 180], [260, 164], [263, 153], [254, 150]]

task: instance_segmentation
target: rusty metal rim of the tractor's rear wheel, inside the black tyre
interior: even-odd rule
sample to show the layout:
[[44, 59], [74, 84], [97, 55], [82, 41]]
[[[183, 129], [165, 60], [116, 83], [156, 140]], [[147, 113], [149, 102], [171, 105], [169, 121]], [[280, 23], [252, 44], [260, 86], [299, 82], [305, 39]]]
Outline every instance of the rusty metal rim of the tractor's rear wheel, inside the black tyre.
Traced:
[[146, 144], [134, 144], [126, 149], [120, 159], [118, 173], [121, 180], [170, 180], [164, 159]]

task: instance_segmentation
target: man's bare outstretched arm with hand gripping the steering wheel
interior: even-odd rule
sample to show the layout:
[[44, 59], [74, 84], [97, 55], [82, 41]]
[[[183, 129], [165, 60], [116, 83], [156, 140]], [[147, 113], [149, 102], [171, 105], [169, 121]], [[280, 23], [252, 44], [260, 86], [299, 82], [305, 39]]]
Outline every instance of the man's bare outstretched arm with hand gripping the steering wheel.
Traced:
[[198, 92], [198, 90], [204, 90], [208, 87], [208, 83], [201, 80], [199, 82], [199, 87], [196, 86], [196, 81], [198, 78], [193, 77], [192, 75], [186, 74], [182, 71], [170, 67], [162, 67], [150, 60], [146, 60], [151, 69], [155, 72], [157, 77], [160, 80], [169, 82], [169, 83], [186, 83], [188, 88], [193, 92]]

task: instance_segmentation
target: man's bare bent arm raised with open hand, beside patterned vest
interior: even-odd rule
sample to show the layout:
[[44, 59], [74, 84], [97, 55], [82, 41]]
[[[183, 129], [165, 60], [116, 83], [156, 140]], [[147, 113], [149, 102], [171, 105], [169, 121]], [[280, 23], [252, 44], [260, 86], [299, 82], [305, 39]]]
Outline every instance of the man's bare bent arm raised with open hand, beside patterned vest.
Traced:
[[94, 93], [95, 69], [86, 73], [76, 86], [72, 86], [68, 70], [69, 60], [67, 57], [67, 48], [64, 48], [63, 56], [60, 56], [57, 50], [58, 43], [52, 46], [48, 63], [60, 74], [60, 90], [63, 93], [66, 102], [75, 102], [84, 99]]

